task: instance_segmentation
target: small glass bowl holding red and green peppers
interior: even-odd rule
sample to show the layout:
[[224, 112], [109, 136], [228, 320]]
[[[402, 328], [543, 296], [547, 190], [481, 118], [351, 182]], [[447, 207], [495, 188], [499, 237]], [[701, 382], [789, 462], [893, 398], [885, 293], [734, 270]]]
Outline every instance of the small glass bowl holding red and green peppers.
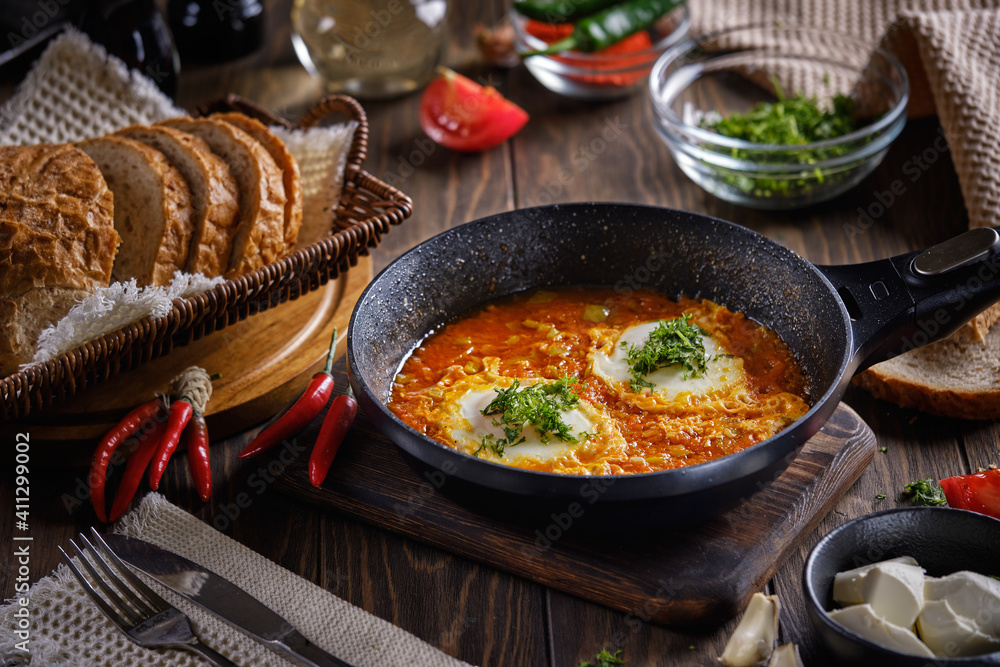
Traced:
[[[540, 27], [537, 22], [513, 10], [510, 19], [518, 53], [548, 46], [549, 42], [533, 29]], [[683, 40], [690, 27], [691, 15], [685, 3], [646, 31], [652, 43], [647, 49], [622, 53], [566, 51], [551, 56], [529, 56], [524, 59], [524, 66], [543, 86], [566, 97], [581, 100], [626, 97], [646, 85], [656, 59]]]

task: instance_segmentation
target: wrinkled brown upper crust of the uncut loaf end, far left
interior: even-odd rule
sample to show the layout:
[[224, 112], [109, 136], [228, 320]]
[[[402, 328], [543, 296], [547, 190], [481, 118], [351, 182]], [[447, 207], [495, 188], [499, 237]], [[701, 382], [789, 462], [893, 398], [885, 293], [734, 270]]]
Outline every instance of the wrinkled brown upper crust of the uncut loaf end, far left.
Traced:
[[97, 164], [70, 145], [0, 147], [0, 294], [107, 286], [121, 238]]

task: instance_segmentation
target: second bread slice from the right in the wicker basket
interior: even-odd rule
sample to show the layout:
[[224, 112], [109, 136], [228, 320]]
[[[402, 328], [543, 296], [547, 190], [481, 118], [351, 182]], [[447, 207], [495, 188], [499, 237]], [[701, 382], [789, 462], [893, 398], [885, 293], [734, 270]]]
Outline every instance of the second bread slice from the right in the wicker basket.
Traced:
[[256, 139], [234, 125], [209, 118], [171, 118], [161, 125], [201, 137], [229, 165], [240, 190], [240, 226], [229, 273], [270, 264], [284, 252], [285, 186], [281, 170]]

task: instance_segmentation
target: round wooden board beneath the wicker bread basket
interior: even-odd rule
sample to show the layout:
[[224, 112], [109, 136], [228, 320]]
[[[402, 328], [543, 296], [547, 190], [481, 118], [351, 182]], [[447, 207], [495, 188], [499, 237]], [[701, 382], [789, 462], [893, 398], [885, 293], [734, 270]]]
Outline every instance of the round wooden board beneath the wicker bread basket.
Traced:
[[[369, 257], [337, 280], [298, 299], [216, 331], [139, 368], [122, 373], [40, 414], [3, 427], [72, 457], [90, 448], [131, 408], [164, 392], [189, 366], [221, 377], [212, 383], [206, 419], [213, 438], [259, 424], [295, 399], [323, 367], [334, 327], [336, 356], [347, 325], [372, 277]], [[342, 389], [342, 388], [339, 388]]]

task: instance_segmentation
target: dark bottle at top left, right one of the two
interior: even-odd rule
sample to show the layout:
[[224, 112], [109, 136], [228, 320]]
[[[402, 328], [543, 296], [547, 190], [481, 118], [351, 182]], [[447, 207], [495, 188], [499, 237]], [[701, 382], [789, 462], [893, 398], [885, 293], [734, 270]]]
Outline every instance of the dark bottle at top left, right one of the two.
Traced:
[[170, 0], [167, 21], [185, 62], [236, 60], [264, 42], [259, 0]]

